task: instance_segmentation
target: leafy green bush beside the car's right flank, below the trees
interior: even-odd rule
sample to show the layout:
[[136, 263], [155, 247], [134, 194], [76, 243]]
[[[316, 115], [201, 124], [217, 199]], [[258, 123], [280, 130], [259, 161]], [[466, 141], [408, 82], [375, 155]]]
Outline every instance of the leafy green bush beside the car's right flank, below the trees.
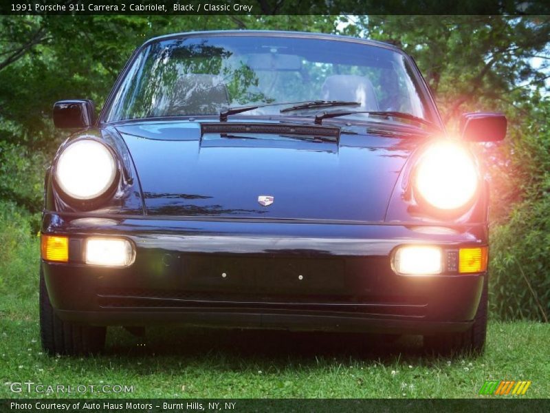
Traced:
[[519, 200], [491, 233], [489, 302], [503, 319], [550, 315], [550, 100], [540, 109], [510, 138], [506, 176]]

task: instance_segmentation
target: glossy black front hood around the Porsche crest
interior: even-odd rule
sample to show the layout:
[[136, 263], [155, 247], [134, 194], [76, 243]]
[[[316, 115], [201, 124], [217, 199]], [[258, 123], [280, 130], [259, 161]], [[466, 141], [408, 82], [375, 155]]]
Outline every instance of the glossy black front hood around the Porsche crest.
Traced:
[[[131, 153], [148, 215], [382, 222], [421, 136], [342, 131], [307, 136], [201, 136], [199, 123], [116, 127]], [[263, 206], [259, 197], [273, 197]]]

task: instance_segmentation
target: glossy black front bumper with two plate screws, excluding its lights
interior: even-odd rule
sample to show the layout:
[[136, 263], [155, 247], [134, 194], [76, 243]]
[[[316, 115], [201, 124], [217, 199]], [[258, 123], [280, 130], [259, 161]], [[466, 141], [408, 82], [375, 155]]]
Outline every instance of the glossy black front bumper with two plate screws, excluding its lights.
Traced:
[[[59, 317], [92, 325], [159, 323], [423, 334], [472, 324], [485, 273], [404, 277], [401, 244], [481, 246], [483, 225], [78, 218], [46, 213], [43, 233], [126, 237], [127, 268], [42, 262]], [[69, 251], [70, 253], [70, 251]]]

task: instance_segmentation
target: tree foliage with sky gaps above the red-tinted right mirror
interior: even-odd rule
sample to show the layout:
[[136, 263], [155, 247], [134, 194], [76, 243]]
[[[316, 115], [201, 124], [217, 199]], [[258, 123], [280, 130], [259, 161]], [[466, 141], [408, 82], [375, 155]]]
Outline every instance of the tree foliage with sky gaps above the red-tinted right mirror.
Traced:
[[547, 16], [368, 16], [347, 31], [413, 56], [445, 123], [467, 111], [502, 111], [513, 119], [519, 108], [525, 115], [547, 78], [530, 61], [547, 56]]

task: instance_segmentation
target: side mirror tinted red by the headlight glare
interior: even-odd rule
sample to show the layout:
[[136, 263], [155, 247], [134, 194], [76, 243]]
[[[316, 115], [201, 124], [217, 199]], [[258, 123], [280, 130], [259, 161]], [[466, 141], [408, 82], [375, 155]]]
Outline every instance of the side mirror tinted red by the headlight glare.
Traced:
[[460, 134], [470, 142], [496, 142], [506, 136], [507, 120], [503, 114], [468, 113], [460, 118]]

